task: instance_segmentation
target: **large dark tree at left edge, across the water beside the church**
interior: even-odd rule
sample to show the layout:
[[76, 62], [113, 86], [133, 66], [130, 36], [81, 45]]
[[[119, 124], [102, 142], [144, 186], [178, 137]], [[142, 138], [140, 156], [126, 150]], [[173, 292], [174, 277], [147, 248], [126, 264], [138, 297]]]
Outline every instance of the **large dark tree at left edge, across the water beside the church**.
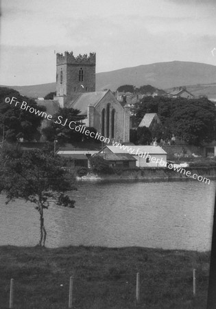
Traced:
[[31, 106], [39, 111], [45, 111], [44, 106], [38, 106], [36, 102], [27, 97], [23, 97], [18, 91], [9, 89], [6, 87], [0, 87], [0, 135], [7, 141], [17, 141], [19, 137], [23, 137], [27, 141], [33, 139], [39, 139], [40, 133], [38, 128], [43, 118], [22, 110], [20, 104], [8, 104], [5, 103], [5, 98], [16, 98], [18, 102], [27, 102], [28, 106]]

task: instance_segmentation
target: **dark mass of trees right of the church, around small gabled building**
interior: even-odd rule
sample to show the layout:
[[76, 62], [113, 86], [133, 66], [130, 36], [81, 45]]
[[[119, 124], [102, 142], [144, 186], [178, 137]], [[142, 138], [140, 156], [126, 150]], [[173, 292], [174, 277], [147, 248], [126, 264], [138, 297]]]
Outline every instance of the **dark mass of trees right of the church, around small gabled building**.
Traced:
[[157, 139], [175, 135], [188, 144], [200, 145], [213, 141], [216, 136], [215, 105], [206, 98], [147, 97], [136, 104], [135, 113], [138, 124], [145, 113], [158, 113], [162, 128], [152, 133]]

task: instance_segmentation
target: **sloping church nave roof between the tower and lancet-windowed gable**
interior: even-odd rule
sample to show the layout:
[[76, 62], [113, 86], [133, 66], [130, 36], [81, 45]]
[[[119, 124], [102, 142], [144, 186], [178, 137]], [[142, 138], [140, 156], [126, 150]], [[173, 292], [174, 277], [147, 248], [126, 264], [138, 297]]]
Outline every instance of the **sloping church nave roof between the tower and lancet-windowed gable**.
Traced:
[[80, 115], [87, 115], [88, 106], [96, 106], [108, 91], [110, 90], [81, 93], [68, 107], [78, 109]]

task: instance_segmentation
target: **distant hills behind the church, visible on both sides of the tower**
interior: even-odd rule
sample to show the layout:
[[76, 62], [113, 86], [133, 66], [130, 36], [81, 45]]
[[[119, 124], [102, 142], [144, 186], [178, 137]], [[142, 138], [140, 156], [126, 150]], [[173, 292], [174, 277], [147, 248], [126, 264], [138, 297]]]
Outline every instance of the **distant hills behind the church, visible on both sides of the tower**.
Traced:
[[[96, 74], [96, 89], [111, 89], [115, 91], [123, 84], [133, 84], [136, 87], [151, 84], [158, 89], [195, 85], [187, 89], [193, 94], [204, 91], [216, 97], [216, 66], [197, 62], [159, 62], [152, 65], [140, 65], [115, 71]], [[56, 90], [56, 83], [37, 84], [32, 86], [11, 86], [22, 95], [37, 98]], [[200, 94], [200, 93], [199, 93]]]

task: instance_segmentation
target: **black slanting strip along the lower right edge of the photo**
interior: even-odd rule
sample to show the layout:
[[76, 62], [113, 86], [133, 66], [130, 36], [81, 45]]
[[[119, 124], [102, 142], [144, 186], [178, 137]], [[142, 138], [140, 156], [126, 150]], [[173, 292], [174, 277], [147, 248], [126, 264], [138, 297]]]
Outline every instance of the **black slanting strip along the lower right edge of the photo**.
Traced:
[[211, 261], [208, 279], [207, 309], [216, 309], [216, 192], [213, 217], [213, 236], [211, 243]]

